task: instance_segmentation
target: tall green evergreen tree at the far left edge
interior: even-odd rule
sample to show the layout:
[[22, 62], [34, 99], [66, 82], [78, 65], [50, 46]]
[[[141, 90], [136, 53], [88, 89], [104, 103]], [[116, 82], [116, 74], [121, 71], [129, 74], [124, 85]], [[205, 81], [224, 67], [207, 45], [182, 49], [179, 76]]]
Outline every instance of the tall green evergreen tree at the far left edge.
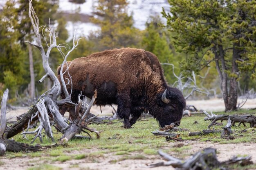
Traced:
[[15, 3], [7, 1], [0, 13], [0, 83], [9, 89], [10, 98], [16, 98], [18, 87], [25, 82], [25, 53], [18, 44], [20, 36], [13, 28], [18, 25], [18, 17], [13, 16]]

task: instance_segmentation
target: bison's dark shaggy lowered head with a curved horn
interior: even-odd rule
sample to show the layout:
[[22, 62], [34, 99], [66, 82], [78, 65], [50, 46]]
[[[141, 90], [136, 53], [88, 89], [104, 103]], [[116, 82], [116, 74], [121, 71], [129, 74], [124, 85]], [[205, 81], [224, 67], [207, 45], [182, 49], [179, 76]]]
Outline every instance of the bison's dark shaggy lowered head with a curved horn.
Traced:
[[186, 107], [186, 100], [179, 89], [168, 87], [157, 99], [159, 108], [155, 115], [159, 125], [164, 127], [174, 123], [175, 126], [180, 125], [183, 109]]

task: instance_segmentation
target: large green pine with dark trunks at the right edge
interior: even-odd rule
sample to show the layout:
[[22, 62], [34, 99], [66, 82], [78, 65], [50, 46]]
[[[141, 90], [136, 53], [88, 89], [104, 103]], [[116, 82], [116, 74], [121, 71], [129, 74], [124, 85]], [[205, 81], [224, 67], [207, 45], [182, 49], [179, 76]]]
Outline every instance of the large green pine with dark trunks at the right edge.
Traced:
[[[235, 110], [241, 72], [256, 68], [254, 0], [169, 0], [163, 11], [179, 50], [189, 53], [183, 69], [199, 72], [216, 64], [226, 111]], [[252, 78], [255, 73], [252, 74]]]

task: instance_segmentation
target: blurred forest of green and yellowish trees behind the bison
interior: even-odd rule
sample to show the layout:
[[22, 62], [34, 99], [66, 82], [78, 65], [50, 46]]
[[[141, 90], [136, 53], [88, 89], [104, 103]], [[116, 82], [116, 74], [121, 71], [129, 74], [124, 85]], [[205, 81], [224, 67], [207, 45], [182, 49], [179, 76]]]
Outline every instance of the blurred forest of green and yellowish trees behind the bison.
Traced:
[[[86, 3], [85, 0], [71, 0], [71, 2]], [[196, 85], [203, 93], [194, 93], [190, 99], [222, 98], [222, 80], [218, 75], [218, 67], [216, 67], [218, 59], [214, 57], [214, 52], [221, 52], [220, 46], [222, 46], [225, 47], [226, 65], [220, 63], [220, 67], [226, 67], [222, 67], [222, 71], [223, 75], [227, 76], [227, 83], [231, 84], [232, 78], [236, 81], [238, 96], [245, 96], [249, 92], [254, 93], [256, 85], [254, 79], [256, 21], [253, 13], [256, 8], [253, 8], [255, 4], [249, 4], [253, 1], [246, 3], [243, 0], [227, 1], [225, 3], [228, 5], [223, 6], [222, 1], [217, 4], [211, 0], [188, 4], [186, 0], [169, 0], [166, 3], [171, 7], [170, 11], [152, 13], [143, 30], [135, 27], [134, 23], [137, 18], [133, 16], [133, 13], [128, 13], [126, 0], [96, 0], [95, 2], [96, 5], [92, 7], [94, 15], [88, 19], [100, 29], [91, 31], [89, 35], [77, 37], [81, 38], [81, 41], [69, 60], [106, 49], [142, 48], [153, 52], [161, 63], [173, 64], [174, 70], [171, 65], [162, 65], [164, 75], [170, 85], [177, 85], [177, 83], [175, 84], [177, 78], [173, 72], [176, 75], [182, 73], [184, 82], [188, 80], [188, 77], [192, 77], [193, 72], [195, 73]], [[79, 9], [75, 9], [72, 14], [65, 13], [64, 15], [62, 11], [58, 10], [59, 3], [61, 3], [59, 0], [35, 0], [33, 7], [41, 22], [40, 25], [49, 26], [50, 19], [51, 25], [56, 27], [58, 43], [71, 46], [72, 40], [67, 31], [67, 21], [76, 22], [82, 17], [79, 14]], [[198, 6], [193, 6], [195, 4]], [[249, 8], [249, 6], [252, 7]], [[182, 11], [179, 11], [179, 7], [182, 7]], [[226, 8], [229, 9], [227, 10], [229, 12], [225, 11]], [[243, 8], [248, 11], [244, 19], [246, 22], [241, 21], [243, 18], [240, 18], [242, 14], [239, 12], [245, 11]], [[215, 10], [219, 12], [216, 13]], [[189, 11], [193, 14], [190, 14]], [[250, 11], [252, 14], [249, 13]], [[168, 15], [168, 12], [172, 12], [172, 14]], [[236, 17], [236, 14], [239, 17]], [[210, 17], [207, 18], [208, 15]], [[45, 73], [40, 52], [25, 42], [34, 39], [31, 23], [27, 16], [27, 0], [8, 0], [0, 11], [0, 96], [8, 88], [9, 102], [14, 105], [30, 105], [51, 87], [49, 80], [42, 84], [37, 83]], [[232, 20], [229, 20], [231, 17]], [[233, 18], [238, 19], [233, 20]], [[216, 21], [217, 19], [215, 25], [212, 24], [211, 20]], [[178, 22], [179, 20], [181, 22]], [[227, 23], [227, 20], [234, 22]], [[195, 26], [191, 23], [197, 24]], [[234, 35], [238, 33], [238, 27], [243, 28], [242, 33], [245, 33], [245, 36], [237, 38]], [[41, 29], [43, 28], [41, 27]], [[45, 30], [47, 32], [46, 28]], [[240, 58], [235, 61], [238, 70], [233, 72], [232, 55], [234, 51], [230, 52], [229, 50], [232, 50], [233, 46], [233, 50], [238, 49], [237, 43], [245, 49], [239, 49], [241, 50]], [[216, 44], [218, 50], [216, 50]], [[52, 69], [56, 70], [63, 58], [57, 49], [51, 53], [51, 56], [49, 63]], [[230, 90], [230, 87], [227, 89]]]

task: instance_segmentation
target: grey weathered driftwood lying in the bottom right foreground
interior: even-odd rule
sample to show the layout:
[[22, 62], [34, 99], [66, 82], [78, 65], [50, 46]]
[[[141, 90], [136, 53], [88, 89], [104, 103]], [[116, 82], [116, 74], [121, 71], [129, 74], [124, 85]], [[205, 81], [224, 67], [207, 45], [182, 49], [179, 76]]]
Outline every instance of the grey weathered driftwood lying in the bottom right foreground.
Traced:
[[158, 153], [166, 159], [167, 162], [151, 164], [149, 166], [150, 168], [158, 166], [173, 166], [173, 168], [176, 168], [177, 170], [212, 170], [215, 168], [224, 169], [234, 163], [238, 163], [240, 165], [252, 164], [252, 161], [250, 161], [251, 157], [234, 157], [228, 161], [220, 162], [216, 157], [216, 149], [214, 148], [205, 148], [186, 160], [177, 159], [162, 152], [161, 150], [159, 150]]

